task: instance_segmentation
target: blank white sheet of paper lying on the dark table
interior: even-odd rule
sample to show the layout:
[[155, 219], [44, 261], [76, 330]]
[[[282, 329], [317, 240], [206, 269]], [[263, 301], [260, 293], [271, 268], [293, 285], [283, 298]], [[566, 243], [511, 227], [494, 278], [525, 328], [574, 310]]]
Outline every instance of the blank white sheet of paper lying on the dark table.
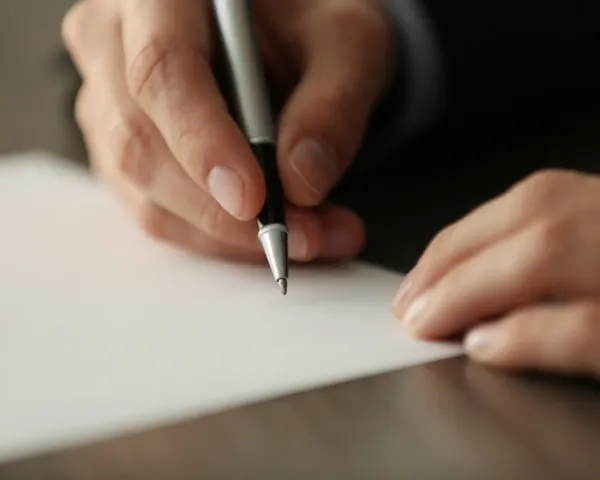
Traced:
[[407, 338], [401, 277], [266, 269], [146, 238], [85, 171], [0, 159], [0, 460], [456, 355]]

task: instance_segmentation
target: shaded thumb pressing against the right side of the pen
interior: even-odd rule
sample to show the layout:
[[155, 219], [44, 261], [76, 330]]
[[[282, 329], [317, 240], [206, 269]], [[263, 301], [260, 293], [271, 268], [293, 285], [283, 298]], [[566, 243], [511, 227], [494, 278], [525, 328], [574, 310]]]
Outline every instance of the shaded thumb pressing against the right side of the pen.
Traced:
[[301, 29], [306, 71], [279, 123], [290, 201], [319, 204], [360, 145], [389, 64], [385, 21], [365, 2], [318, 7]]

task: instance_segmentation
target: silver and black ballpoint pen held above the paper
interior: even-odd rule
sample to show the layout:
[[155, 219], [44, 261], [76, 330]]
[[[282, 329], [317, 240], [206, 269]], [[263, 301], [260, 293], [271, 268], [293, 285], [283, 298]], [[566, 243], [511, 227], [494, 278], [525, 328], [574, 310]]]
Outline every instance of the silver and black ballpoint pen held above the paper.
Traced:
[[266, 200], [258, 214], [258, 239], [281, 293], [287, 293], [288, 231], [277, 170], [275, 128], [248, 0], [213, 0], [215, 20], [235, 93], [239, 122], [260, 164]]

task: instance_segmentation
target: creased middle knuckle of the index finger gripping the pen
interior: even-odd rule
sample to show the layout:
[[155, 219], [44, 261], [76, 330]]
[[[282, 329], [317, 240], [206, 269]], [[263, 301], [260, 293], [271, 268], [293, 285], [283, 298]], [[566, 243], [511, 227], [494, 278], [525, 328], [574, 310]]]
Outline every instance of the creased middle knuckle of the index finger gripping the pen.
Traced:
[[164, 36], [151, 37], [135, 55], [126, 73], [126, 83], [131, 95], [156, 95], [173, 78], [173, 59], [177, 52], [175, 42]]

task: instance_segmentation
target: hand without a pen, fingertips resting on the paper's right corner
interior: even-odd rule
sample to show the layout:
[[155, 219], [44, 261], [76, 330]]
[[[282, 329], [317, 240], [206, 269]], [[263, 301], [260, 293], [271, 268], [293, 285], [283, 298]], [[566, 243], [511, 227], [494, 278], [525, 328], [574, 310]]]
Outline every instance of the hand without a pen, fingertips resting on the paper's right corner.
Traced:
[[475, 360], [600, 375], [600, 176], [538, 172], [445, 228], [394, 300]]

